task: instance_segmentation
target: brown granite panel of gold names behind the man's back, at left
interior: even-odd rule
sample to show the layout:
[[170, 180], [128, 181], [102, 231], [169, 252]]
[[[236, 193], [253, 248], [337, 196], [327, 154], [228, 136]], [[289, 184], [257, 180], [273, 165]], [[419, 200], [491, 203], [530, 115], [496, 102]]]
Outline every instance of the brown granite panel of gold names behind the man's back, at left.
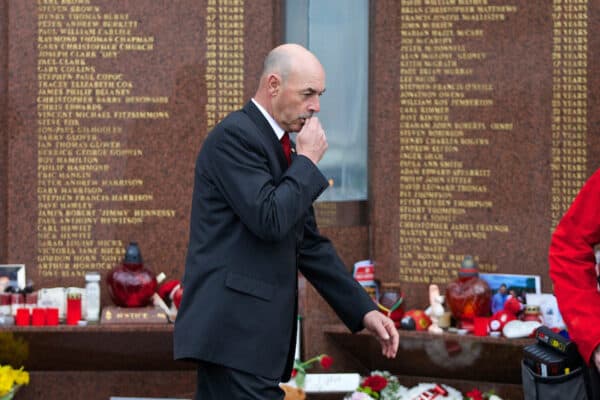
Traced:
[[274, 43], [265, 10], [271, 1], [11, 2], [2, 259], [37, 287], [83, 286], [137, 241], [150, 268], [180, 278], [195, 158], [255, 90]]

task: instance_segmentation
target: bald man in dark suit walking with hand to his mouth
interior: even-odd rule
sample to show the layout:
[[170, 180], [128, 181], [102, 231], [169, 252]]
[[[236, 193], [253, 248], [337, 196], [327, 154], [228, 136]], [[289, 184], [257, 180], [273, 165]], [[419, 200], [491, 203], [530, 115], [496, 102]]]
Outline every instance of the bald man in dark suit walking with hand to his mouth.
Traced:
[[[350, 330], [367, 328], [385, 356], [396, 354], [393, 321], [376, 311], [315, 223], [312, 203], [328, 186], [316, 166], [327, 149], [314, 116], [324, 91], [317, 58], [279, 46], [265, 59], [254, 98], [202, 146], [174, 333], [175, 358], [198, 362], [197, 399], [283, 399], [298, 270]], [[298, 132], [295, 154], [284, 150], [287, 132]]]

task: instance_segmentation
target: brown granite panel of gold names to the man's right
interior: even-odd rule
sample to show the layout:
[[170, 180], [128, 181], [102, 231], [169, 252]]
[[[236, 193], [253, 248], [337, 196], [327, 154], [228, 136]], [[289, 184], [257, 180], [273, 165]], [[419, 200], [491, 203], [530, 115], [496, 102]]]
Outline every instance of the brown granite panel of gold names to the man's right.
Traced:
[[[390, 118], [374, 122], [373, 140], [380, 278], [422, 306], [426, 286], [453, 280], [471, 254], [482, 272], [539, 274], [550, 291], [550, 234], [600, 166], [598, 3], [394, 7], [373, 39], [374, 93], [390, 97], [375, 106]], [[397, 46], [386, 53], [388, 34]]]

